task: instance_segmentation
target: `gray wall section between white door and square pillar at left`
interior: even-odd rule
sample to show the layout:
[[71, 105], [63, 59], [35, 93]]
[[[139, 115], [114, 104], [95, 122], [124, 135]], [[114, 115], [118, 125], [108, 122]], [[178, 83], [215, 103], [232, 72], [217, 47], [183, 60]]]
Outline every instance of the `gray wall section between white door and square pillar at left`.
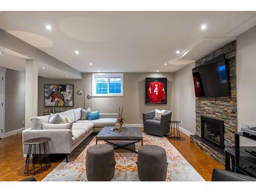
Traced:
[[25, 127], [25, 72], [6, 70], [5, 133]]

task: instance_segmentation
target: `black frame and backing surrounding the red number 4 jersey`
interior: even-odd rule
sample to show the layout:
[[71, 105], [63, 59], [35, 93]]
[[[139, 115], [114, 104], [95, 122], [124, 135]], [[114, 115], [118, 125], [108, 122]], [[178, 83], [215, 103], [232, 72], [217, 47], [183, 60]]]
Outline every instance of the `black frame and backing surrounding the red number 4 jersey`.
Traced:
[[[152, 102], [148, 98], [148, 86], [151, 82], [159, 81], [163, 83], [164, 92], [165, 92], [165, 99], [162, 99], [161, 102]], [[160, 78], [160, 77], [146, 77], [145, 78], [145, 103], [146, 104], [167, 104], [167, 78]]]

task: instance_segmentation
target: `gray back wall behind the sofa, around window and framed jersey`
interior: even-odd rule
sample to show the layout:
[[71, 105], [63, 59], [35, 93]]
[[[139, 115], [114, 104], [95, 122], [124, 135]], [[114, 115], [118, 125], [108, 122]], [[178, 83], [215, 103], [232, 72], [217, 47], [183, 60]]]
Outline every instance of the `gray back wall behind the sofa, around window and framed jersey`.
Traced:
[[[145, 77], [167, 78], [167, 104], [145, 104]], [[92, 93], [92, 73], [83, 73], [82, 79], [48, 79], [38, 77], [38, 115], [44, 107], [44, 84], [74, 84], [74, 108], [83, 106], [83, 97], [76, 94], [77, 90], [85, 89]], [[94, 97], [86, 99], [86, 107], [100, 113], [117, 113], [118, 106], [124, 105], [124, 123], [142, 123], [142, 113], [166, 109], [174, 111], [174, 73], [124, 73], [123, 97]]]

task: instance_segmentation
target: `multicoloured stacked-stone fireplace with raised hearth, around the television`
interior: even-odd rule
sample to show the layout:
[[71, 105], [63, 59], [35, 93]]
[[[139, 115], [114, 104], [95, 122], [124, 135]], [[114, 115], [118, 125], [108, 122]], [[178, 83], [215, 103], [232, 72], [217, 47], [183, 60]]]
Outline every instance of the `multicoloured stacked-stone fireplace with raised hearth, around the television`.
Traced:
[[192, 143], [222, 164], [224, 150], [233, 149], [237, 131], [236, 40], [195, 62], [198, 67], [223, 53], [229, 68], [230, 96], [196, 97], [196, 132], [190, 135]]

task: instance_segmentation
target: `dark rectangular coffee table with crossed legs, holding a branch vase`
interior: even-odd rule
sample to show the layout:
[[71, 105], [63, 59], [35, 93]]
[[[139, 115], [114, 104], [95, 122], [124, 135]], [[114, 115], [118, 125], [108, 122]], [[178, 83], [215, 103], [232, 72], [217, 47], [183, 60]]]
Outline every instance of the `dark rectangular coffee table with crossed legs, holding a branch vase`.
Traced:
[[[134, 153], [138, 153], [134, 150], [131, 150], [130, 148], [127, 148], [127, 146], [132, 145], [134, 143], [137, 143], [141, 141], [141, 146], [143, 145], [143, 135], [141, 133], [140, 127], [124, 127], [122, 132], [115, 132], [112, 131], [115, 127], [113, 126], [105, 126], [103, 129], [96, 135], [96, 144], [99, 140], [103, 140], [105, 142], [108, 142], [110, 144], [115, 145], [116, 148], [124, 148], [126, 150], [129, 150]], [[117, 143], [113, 143], [110, 141], [131, 141], [129, 143], [119, 145]]]

